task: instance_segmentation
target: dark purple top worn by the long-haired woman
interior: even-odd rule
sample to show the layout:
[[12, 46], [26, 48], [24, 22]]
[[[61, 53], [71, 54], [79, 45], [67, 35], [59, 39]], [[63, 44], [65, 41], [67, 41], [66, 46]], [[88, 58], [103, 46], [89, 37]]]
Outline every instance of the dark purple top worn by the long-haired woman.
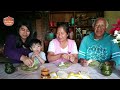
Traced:
[[12, 62], [21, 62], [20, 57], [22, 55], [28, 56], [31, 51], [23, 47], [16, 48], [16, 36], [9, 35], [6, 39], [4, 46], [4, 55], [8, 57]]

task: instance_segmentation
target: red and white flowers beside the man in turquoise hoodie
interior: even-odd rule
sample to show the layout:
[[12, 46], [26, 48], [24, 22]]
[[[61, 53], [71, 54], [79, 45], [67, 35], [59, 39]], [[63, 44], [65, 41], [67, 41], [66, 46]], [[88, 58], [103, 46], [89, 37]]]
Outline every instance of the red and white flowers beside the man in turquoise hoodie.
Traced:
[[113, 24], [114, 28], [110, 30], [110, 34], [115, 37], [112, 41], [118, 43], [120, 47], [120, 19], [117, 20], [117, 24]]

